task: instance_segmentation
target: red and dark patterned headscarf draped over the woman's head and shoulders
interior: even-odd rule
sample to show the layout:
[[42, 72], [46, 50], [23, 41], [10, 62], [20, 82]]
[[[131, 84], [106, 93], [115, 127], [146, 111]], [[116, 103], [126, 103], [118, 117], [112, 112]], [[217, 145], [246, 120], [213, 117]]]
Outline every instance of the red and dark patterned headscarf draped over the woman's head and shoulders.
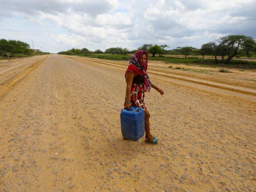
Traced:
[[[146, 63], [142, 66], [141, 58], [143, 54], [146, 54]], [[151, 88], [151, 82], [149, 80], [148, 74], [146, 73], [147, 60], [148, 60], [147, 51], [138, 50], [130, 58], [128, 69], [125, 71], [125, 76], [128, 72], [132, 72], [136, 75], [144, 75], [144, 92], [147, 92], [147, 91], [149, 92]]]

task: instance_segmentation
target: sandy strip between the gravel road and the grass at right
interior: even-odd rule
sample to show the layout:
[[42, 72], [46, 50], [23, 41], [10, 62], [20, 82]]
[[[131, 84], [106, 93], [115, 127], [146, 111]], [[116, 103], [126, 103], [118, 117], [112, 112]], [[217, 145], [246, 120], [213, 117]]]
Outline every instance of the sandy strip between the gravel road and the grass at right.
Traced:
[[[86, 58], [68, 56], [74, 58]], [[110, 61], [104, 59], [87, 58], [95, 61], [112, 62], [118, 65], [127, 65], [127, 61]], [[170, 66], [172, 66], [170, 68]], [[179, 69], [176, 69], [179, 68]], [[232, 73], [221, 73], [219, 69], [226, 69]], [[236, 69], [236, 68], [212, 68], [199, 65], [185, 65], [166, 63], [163, 61], [148, 61], [148, 70], [157, 70], [161, 72], [178, 74], [187, 77], [195, 77], [203, 80], [221, 82], [230, 85], [238, 85], [248, 88], [256, 88], [256, 70], [255, 69]]]

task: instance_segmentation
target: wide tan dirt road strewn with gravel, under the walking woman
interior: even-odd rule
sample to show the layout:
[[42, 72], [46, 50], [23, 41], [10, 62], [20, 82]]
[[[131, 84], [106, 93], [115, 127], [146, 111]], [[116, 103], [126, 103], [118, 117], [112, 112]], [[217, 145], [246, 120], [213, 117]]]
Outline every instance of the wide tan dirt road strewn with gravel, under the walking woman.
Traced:
[[120, 130], [125, 69], [46, 57], [0, 64], [0, 191], [256, 190], [255, 96], [149, 73], [165, 91], [146, 93], [160, 141], [132, 142]]

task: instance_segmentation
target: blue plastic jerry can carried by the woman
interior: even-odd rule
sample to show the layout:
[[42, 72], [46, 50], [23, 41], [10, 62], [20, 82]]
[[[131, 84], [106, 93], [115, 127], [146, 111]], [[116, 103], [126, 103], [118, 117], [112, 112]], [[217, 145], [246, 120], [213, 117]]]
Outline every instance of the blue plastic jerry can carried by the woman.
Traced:
[[130, 107], [130, 110], [121, 110], [120, 119], [124, 138], [138, 141], [143, 137], [145, 132], [145, 114], [141, 107]]

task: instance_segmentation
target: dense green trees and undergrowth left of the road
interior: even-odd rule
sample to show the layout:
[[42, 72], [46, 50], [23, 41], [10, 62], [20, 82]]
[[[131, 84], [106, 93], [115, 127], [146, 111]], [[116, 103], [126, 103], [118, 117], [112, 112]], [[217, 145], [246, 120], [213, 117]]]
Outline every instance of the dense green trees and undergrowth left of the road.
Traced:
[[39, 49], [30, 49], [28, 43], [16, 40], [6, 40], [0, 39], [0, 57], [1, 58], [20, 58], [20, 57], [30, 57], [32, 55], [44, 55], [50, 54], [48, 52], [42, 52]]

